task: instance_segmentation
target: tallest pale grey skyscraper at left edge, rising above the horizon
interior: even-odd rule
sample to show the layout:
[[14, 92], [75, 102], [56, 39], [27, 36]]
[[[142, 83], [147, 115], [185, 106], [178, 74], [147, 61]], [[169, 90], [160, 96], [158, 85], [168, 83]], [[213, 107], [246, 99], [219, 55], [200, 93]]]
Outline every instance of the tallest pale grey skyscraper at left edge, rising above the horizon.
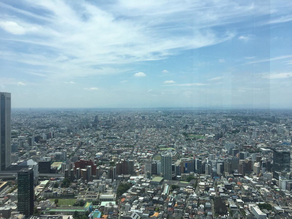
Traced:
[[11, 165], [11, 93], [0, 92], [0, 170]]

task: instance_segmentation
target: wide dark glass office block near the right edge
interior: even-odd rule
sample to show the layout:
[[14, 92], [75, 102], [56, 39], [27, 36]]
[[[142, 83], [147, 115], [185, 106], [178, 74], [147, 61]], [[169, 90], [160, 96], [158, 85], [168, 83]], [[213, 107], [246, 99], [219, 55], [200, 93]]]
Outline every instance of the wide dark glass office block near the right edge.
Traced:
[[287, 151], [276, 151], [273, 152], [273, 170], [289, 171], [290, 172], [290, 152]]

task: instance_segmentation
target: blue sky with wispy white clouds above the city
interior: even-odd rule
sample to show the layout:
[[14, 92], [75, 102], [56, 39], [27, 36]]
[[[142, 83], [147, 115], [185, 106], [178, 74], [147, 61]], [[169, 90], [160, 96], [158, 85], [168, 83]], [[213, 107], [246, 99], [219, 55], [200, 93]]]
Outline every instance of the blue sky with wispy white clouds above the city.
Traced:
[[12, 107], [292, 107], [292, 1], [0, 0]]

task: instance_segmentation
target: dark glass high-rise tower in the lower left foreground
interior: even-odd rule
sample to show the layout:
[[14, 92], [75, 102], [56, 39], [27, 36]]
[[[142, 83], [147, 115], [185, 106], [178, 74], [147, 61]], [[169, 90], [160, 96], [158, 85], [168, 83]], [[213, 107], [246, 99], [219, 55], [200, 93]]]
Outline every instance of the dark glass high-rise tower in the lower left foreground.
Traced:
[[34, 213], [34, 172], [25, 168], [18, 172], [18, 211], [28, 218]]

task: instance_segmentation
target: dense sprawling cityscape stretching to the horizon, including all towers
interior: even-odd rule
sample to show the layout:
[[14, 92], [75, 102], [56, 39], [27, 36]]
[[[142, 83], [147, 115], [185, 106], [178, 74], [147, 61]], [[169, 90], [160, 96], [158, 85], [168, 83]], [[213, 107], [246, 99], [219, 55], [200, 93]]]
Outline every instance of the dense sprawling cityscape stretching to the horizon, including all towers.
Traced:
[[6, 219], [291, 218], [288, 109], [12, 108]]

